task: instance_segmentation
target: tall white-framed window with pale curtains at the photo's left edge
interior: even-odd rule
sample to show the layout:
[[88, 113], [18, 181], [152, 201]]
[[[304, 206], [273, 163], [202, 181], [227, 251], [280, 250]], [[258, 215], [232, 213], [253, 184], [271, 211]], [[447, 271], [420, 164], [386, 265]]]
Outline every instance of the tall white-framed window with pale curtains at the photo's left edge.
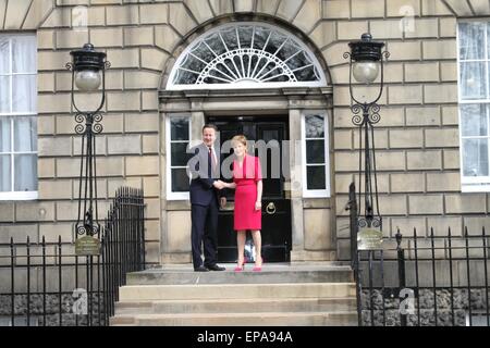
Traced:
[[35, 35], [0, 35], [0, 199], [37, 198]]

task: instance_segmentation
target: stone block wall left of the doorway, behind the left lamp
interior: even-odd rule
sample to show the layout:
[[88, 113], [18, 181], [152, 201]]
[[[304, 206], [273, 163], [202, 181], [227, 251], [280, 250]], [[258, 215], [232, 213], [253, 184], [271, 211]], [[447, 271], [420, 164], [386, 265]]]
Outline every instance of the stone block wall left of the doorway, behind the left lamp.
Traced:
[[[8, 1], [7, 17], [9, 13], [10, 17], [20, 15], [22, 11], [15, 11], [15, 7], [28, 7], [27, 2], [30, 1]], [[38, 9], [36, 11], [44, 14], [35, 26], [24, 24], [14, 28], [5, 23], [3, 28], [37, 29], [39, 200], [0, 202], [0, 243], [9, 241], [11, 236], [15, 241], [25, 243], [27, 235], [32, 243], [39, 241], [41, 236], [46, 236], [47, 243], [57, 241], [58, 235], [62, 236], [63, 243], [74, 240], [81, 139], [74, 134], [71, 73], [65, 63], [71, 60], [71, 50], [91, 41], [97, 49], [107, 52], [111, 62], [107, 72], [107, 102], [102, 109], [103, 132], [97, 137], [96, 147], [97, 190], [101, 199], [99, 217], [105, 217], [109, 199], [115, 196], [117, 188], [123, 185], [143, 188], [148, 219], [147, 260], [157, 263], [160, 234], [157, 88], [166, 54], [158, 45], [168, 36], [155, 35], [154, 30], [157, 23], [161, 23], [160, 29], [166, 32], [167, 16], [145, 26], [139, 25], [137, 4], [121, 5], [120, 1], [32, 2], [29, 13]], [[86, 27], [74, 23], [76, 12], [72, 11], [76, 5], [87, 9]], [[167, 8], [167, 4], [160, 7]], [[0, 5], [0, 12], [5, 9]], [[142, 24], [151, 23], [148, 15], [143, 9]], [[94, 108], [95, 97], [82, 95], [77, 102], [89, 110]]]

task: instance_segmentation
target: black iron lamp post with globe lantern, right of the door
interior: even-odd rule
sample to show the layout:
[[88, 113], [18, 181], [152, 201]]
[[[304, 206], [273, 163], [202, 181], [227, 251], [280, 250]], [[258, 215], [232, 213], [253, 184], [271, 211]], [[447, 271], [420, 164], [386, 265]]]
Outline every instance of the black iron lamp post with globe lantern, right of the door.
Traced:
[[[359, 203], [357, 206], [357, 223], [359, 228], [379, 228], [381, 231], [382, 219], [379, 213], [378, 202], [373, 125], [380, 121], [380, 108], [377, 102], [383, 90], [383, 58], [388, 59], [390, 53], [381, 51], [384, 44], [372, 41], [370, 34], [363, 34], [360, 40], [352, 41], [348, 46], [351, 52], [345, 52], [344, 58], [350, 59], [348, 88], [353, 101], [351, 110], [354, 113], [352, 122], [359, 127]], [[354, 94], [352, 77], [360, 84], [370, 85], [376, 82], [380, 73], [381, 77], [377, 97], [370, 101], [359, 101]], [[363, 151], [364, 191], [362, 186]], [[364, 204], [362, 203], [363, 196]]]

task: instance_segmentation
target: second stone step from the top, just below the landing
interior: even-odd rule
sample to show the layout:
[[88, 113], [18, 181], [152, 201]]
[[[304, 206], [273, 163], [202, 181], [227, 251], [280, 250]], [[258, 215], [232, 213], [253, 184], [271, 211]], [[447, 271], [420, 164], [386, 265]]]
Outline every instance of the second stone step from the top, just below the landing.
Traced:
[[126, 285], [120, 301], [354, 297], [355, 283]]

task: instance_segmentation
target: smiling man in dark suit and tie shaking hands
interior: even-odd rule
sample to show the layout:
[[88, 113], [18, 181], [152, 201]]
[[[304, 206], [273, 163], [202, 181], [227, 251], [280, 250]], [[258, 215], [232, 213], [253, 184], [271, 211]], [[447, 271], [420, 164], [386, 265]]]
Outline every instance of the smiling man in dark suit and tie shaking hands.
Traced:
[[[213, 124], [203, 127], [203, 142], [193, 148], [194, 157], [189, 161], [191, 181], [191, 243], [195, 272], [224, 271], [216, 263], [217, 229], [219, 204], [224, 204], [220, 177], [219, 157], [213, 145], [218, 128]], [[200, 247], [204, 245], [204, 264]]]

